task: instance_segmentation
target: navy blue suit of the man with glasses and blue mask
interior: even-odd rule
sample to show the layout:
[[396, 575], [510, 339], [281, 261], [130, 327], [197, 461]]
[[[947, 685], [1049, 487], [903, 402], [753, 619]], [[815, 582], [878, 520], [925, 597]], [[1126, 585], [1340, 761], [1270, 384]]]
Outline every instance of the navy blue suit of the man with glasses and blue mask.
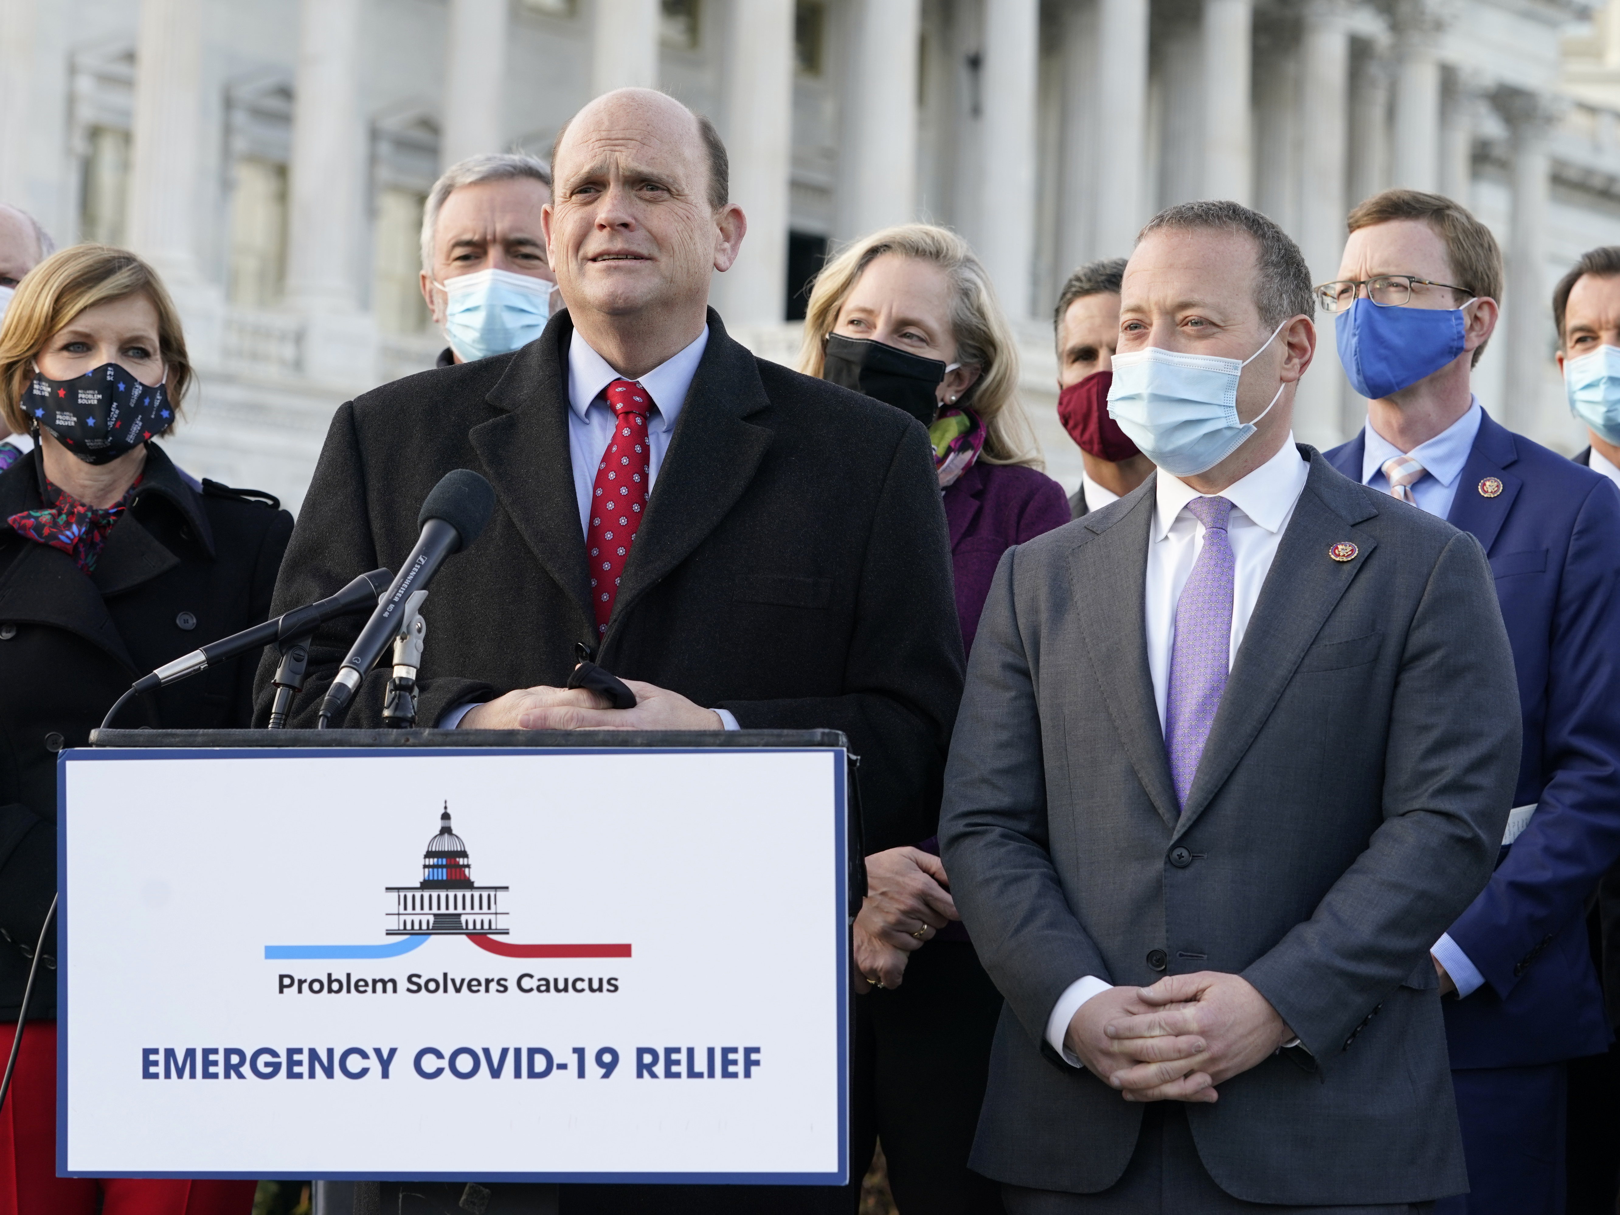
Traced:
[[[1362, 450], [1358, 434], [1327, 458], [1359, 481]], [[1487, 496], [1481, 486], [1492, 489], [1492, 478], [1502, 489]], [[1452, 1068], [1529, 1069], [1599, 1055], [1610, 1032], [1584, 904], [1620, 859], [1620, 494], [1486, 415], [1448, 522], [1479, 539], [1495, 573], [1524, 721], [1513, 804], [1539, 807], [1452, 925], [1486, 980], [1445, 1001]], [[1460, 1105], [1482, 1079], [1458, 1077]], [[1468, 1140], [1469, 1111], [1460, 1113]], [[1560, 1171], [1562, 1137], [1560, 1116]], [[1474, 1197], [1486, 1199], [1474, 1152], [1469, 1174]]]

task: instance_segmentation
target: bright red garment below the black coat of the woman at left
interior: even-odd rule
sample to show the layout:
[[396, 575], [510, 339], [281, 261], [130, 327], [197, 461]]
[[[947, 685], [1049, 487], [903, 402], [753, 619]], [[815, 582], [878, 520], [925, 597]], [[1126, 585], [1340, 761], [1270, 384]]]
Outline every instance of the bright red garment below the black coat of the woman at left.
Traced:
[[[0, 1071], [16, 1025], [0, 1025]], [[0, 1108], [0, 1215], [249, 1215], [254, 1181], [57, 1176], [57, 1022], [29, 1021]]]

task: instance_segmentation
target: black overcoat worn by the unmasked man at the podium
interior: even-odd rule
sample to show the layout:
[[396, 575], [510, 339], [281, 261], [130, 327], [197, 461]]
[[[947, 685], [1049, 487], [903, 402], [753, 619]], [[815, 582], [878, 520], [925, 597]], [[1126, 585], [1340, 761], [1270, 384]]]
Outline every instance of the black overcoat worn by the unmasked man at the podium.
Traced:
[[[561, 687], [596, 633], [569, 460], [572, 332], [559, 313], [522, 350], [386, 384], [332, 420], [272, 611], [399, 570], [449, 470], [496, 489], [483, 536], [429, 590], [423, 726], [467, 701]], [[601, 666], [744, 727], [844, 731], [862, 757], [867, 850], [933, 834], [964, 663], [922, 426], [757, 360], [711, 311], [622, 578]], [[363, 619], [316, 635], [296, 724], [314, 724]], [[272, 669], [259, 667], [259, 721]], [[381, 723], [386, 684], [379, 666], [348, 726]]]

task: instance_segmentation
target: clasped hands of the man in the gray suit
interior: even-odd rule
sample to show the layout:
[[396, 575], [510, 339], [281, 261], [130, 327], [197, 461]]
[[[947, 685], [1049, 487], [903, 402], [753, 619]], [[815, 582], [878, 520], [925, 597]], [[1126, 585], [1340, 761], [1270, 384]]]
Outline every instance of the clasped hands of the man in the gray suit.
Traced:
[[1098, 991], [1063, 1045], [1128, 1102], [1215, 1102], [1215, 1085], [1293, 1037], [1247, 978], [1202, 970]]

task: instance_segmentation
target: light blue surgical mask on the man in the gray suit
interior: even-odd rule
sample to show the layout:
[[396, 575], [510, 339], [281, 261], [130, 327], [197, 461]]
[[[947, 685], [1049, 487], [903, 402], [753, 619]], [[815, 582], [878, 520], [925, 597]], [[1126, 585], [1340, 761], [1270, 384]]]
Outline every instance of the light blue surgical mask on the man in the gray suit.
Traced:
[[[1283, 321], [1288, 324], [1288, 321]], [[1283, 395], [1277, 386], [1272, 403], [1254, 421], [1238, 421], [1238, 381], [1243, 369], [1272, 345], [1283, 326], [1241, 363], [1218, 355], [1183, 355], [1147, 347], [1115, 355], [1115, 382], [1108, 389], [1108, 416], [1119, 423], [1142, 454], [1173, 476], [1207, 473], [1251, 434]]]

